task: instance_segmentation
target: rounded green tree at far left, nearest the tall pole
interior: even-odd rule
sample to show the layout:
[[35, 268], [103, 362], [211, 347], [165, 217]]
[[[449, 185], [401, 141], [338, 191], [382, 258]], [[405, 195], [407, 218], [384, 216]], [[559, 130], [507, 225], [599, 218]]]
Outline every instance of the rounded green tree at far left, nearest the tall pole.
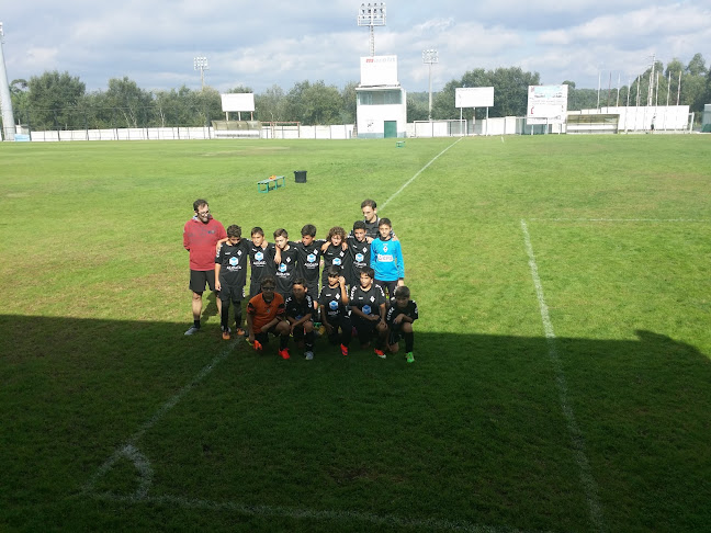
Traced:
[[27, 82], [30, 125], [34, 129], [67, 129], [74, 125], [76, 107], [87, 86], [65, 71], [45, 71]]

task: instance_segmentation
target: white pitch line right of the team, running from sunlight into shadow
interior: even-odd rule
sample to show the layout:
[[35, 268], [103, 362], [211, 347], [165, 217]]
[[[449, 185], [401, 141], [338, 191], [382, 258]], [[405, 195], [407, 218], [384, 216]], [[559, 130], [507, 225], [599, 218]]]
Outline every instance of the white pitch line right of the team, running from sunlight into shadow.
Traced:
[[580, 431], [580, 427], [575, 419], [575, 413], [573, 412], [573, 408], [571, 407], [571, 404], [568, 401], [567, 381], [565, 378], [565, 373], [563, 372], [561, 358], [557, 353], [555, 332], [553, 331], [553, 324], [551, 322], [548, 305], [545, 304], [545, 297], [543, 295], [543, 285], [541, 284], [541, 279], [539, 277], [538, 273], [538, 264], [535, 263], [535, 256], [533, 254], [531, 236], [529, 235], [528, 226], [526, 225], [526, 220], [523, 219], [521, 219], [521, 230], [523, 231], [526, 252], [529, 257], [529, 268], [531, 269], [531, 277], [533, 279], [539, 309], [541, 311], [543, 331], [545, 332], [545, 340], [549, 349], [549, 359], [553, 366], [553, 372], [555, 373], [555, 386], [558, 393], [558, 401], [561, 402], [563, 417], [565, 418], [568, 434], [573, 443], [575, 462], [578, 465], [580, 483], [583, 484], [583, 488], [585, 490], [585, 498], [588, 504], [590, 522], [592, 523], [592, 529], [595, 531], [601, 532], [605, 531], [605, 525], [602, 521], [600, 497], [598, 496], [598, 487], [595, 478], [592, 477], [590, 462], [588, 461], [587, 453], [585, 451], [586, 445], [585, 438], [583, 436], [583, 431]]

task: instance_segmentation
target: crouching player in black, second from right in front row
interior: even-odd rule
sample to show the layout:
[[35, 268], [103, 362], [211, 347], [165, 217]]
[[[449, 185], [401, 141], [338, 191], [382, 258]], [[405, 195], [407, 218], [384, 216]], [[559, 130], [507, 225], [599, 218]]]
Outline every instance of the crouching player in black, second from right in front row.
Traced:
[[373, 269], [365, 266], [360, 273], [360, 283], [351, 287], [349, 295], [351, 322], [358, 331], [361, 348], [368, 348], [376, 336], [375, 355], [385, 359], [385, 294], [373, 283]]

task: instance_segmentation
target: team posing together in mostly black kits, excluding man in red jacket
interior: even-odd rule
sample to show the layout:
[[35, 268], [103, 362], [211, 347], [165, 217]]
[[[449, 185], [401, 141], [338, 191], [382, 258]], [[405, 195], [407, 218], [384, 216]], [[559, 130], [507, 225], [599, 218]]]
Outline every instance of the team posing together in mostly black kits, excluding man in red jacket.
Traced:
[[[199, 206], [195, 204], [194, 207], [193, 220], [206, 225], [200, 217]], [[205, 207], [206, 202], [203, 211]], [[280, 356], [290, 359], [289, 339], [293, 336], [297, 344], [303, 344], [305, 358], [311, 360], [314, 356], [314, 320], [320, 320], [323, 332], [331, 344], [340, 344], [343, 355], [348, 355], [353, 333], [358, 336], [361, 348], [374, 342], [375, 354], [380, 358], [386, 356], [385, 351], [396, 353], [399, 340], [404, 338], [406, 360], [414, 362], [413, 322], [418, 318], [418, 308], [410, 299], [409, 290], [404, 286], [400, 243], [393, 239], [391, 222], [377, 218], [375, 202], [364, 201], [361, 209], [365, 219], [354, 223], [350, 236], [346, 236], [343, 228], [334, 227], [326, 239], [318, 240], [315, 239], [316, 228], [311, 224], [302, 228], [300, 241], [290, 241], [286, 230], [278, 229], [274, 243], [266, 242], [264, 233], [259, 227], [252, 228], [251, 240], [247, 240], [241, 238], [239, 226], [229, 226], [226, 238], [219, 239], [222, 246], [214, 262], [214, 288], [222, 304], [223, 338], [229, 339], [232, 334], [230, 303], [235, 333], [246, 334], [241, 299], [249, 262], [247, 334], [255, 349], [263, 350], [270, 334], [276, 336]], [[214, 219], [208, 217], [210, 220]], [[190, 220], [185, 231], [189, 224]], [[185, 238], [183, 241], [191, 250]], [[321, 262], [323, 288], [319, 292]], [[191, 262], [191, 290], [195, 293], [193, 276]], [[210, 280], [207, 284], [211, 285]], [[204, 285], [203, 281], [201, 298]], [[314, 295], [318, 296], [315, 298]], [[198, 317], [185, 333], [192, 334], [199, 328]]]

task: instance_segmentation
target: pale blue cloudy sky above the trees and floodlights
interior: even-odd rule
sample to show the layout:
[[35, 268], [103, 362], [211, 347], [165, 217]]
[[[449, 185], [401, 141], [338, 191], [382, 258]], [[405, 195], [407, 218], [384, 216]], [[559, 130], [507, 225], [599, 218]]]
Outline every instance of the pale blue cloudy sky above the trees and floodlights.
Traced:
[[[370, 54], [357, 25], [360, 0], [24, 0], [3, 2], [10, 81], [68, 71], [90, 91], [127, 76], [144, 89], [200, 88], [195, 56], [207, 57], [206, 83], [262, 92], [273, 84], [359, 81]], [[366, 2], [365, 2], [366, 3]], [[598, 72], [622, 82], [652, 54], [686, 65], [711, 61], [711, 0], [387, 0], [375, 53], [398, 56], [410, 92], [428, 90], [422, 50], [436, 48], [432, 89], [475, 68], [521, 67], [542, 83], [597, 88]], [[708, 66], [708, 65], [707, 65]]]

